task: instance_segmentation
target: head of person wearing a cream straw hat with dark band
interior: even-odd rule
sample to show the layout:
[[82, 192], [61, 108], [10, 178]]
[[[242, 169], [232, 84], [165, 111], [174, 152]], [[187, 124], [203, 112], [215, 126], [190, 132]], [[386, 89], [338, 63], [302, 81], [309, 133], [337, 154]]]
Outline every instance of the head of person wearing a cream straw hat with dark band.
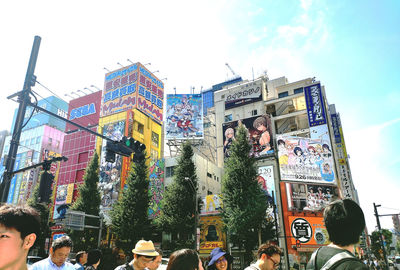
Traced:
[[152, 241], [139, 240], [132, 249], [133, 264], [136, 270], [142, 270], [148, 266], [159, 254]]

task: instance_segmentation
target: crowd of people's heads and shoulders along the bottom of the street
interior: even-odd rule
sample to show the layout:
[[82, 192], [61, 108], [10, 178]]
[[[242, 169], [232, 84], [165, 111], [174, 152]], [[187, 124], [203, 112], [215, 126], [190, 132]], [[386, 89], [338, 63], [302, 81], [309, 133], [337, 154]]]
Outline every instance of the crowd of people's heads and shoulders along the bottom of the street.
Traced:
[[[364, 214], [352, 200], [337, 200], [324, 211], [331, 244], [318, 248], [307, 269], [368, 269], [354, 254], [354, 245], [365, 228]], [[29, 206], [5, 204], [0, 207], [0, 270], [27, 270], [27, 256], [40, 233], [38, 213]], [[31, 265], [31, 270], [96, 270], [102, 260], [98, 249], [76, 253], [76, 263], [68, 262], [73, 243], [69, 236], [55, 239], [49, 257]], [[114, 270], [157, 270], [163, 253], [152, 241], [140, 240], [132, 250], [133, 259]], [[245, 270], [274, 270], [281, 265], [282, 250], [271, 243], [262, 244], [254, 263]], [[212, 250], [203, 265], [197, 251], [180, 249], [171, 254], [166, 270], [232, 270], [233, 257], [221, 248]], [[107, 269], [107, 266], [103, 267]]]

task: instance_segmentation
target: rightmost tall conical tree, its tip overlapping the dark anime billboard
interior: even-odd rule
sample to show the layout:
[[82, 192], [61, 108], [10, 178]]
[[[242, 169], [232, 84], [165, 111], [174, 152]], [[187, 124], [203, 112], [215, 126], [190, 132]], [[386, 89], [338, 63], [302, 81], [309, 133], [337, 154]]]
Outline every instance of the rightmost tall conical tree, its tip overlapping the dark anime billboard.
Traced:
[[222, 180], [222, 218], [230, 242], [245, 250], [245, 262], [249, 264], [266, 219], [268, 201], [257, 181], [255, 159], [250, 157], [251, 145], [244, 126], [237, 128], [230, 150]]

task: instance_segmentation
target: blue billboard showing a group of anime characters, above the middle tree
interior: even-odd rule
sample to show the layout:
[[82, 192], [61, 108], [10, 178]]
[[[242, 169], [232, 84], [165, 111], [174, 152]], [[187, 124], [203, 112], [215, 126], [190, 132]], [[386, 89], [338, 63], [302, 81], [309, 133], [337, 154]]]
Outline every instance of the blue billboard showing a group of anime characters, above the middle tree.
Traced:
[[167, 95], [165, 138], [193, 139], [203, 136], [202, 95]]

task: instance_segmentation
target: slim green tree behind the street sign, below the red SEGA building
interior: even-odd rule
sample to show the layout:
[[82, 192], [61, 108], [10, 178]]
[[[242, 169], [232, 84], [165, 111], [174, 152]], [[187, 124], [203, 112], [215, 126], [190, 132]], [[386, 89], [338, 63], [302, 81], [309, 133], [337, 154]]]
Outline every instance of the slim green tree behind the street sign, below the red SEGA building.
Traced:
[[[78, 188], [78, 198], [71, 210], [82, 211], [88, 215], [99, 216], [101, 197], [98, 190], [99, 183], [99, 156], [95, 152], [83, 176], [83, 184]], [[85, 225], [99, 226], [97, 218], [85, 218]], [[74, 243], [74, 250], [89, 250], [97, 247], [99, 230], [85, 228], [83, 231], [71, 230], [70, 236]]]

